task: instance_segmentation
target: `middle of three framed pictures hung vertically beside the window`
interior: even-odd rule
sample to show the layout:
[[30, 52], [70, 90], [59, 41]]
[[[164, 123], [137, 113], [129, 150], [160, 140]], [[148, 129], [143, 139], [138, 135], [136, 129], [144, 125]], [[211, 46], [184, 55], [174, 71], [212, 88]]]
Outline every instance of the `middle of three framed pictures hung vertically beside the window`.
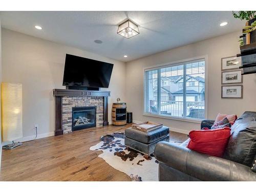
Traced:
[[221, 83], [222, 84], [242, 83], [242, 82], [243, 82], [242, 70], [223, 71], [221, 73]]

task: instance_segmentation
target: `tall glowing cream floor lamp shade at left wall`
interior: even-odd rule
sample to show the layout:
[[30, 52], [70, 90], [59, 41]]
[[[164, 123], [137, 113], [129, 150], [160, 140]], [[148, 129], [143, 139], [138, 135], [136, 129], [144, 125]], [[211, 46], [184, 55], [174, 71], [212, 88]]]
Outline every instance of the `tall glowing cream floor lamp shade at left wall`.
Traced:
[[13, 141], [22, 134], [22, 84], [2, 82], [3, 141]]

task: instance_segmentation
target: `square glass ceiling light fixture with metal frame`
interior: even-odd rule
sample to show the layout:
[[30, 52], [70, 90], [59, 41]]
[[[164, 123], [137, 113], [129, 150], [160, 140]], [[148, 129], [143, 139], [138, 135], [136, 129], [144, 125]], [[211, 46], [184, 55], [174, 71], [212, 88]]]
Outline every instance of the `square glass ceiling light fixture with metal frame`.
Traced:
[[129, 39], [135, 35], [138, 35], [140, 32], [138, 25], [133, 23], [130, 19], [127, 19], [125, 22], [118, 26], [117, 33]]

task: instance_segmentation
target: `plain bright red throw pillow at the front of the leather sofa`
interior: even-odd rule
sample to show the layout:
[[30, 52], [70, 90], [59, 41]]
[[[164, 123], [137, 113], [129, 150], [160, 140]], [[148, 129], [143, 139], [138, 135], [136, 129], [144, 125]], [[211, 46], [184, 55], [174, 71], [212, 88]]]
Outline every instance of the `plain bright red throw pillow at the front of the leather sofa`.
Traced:
[[230, 137], [230, 128], [189, 132], [187, 148], [211, 156], [222, 157]]

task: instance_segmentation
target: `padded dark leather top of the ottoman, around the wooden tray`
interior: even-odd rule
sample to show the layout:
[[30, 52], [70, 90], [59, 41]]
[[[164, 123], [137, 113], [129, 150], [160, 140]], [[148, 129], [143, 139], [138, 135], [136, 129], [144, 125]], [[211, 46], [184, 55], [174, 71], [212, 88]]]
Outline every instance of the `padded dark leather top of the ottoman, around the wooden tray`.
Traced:
[[125, 137], [142, 142], [142, 143], [152, 143], [162, 137], [169, 134], [169, 127], [162, 126], [159, 129], [152, 130], [149, 132], [142, 132], [139, 130], [132, 129], [132, 127], [124, 131]]

